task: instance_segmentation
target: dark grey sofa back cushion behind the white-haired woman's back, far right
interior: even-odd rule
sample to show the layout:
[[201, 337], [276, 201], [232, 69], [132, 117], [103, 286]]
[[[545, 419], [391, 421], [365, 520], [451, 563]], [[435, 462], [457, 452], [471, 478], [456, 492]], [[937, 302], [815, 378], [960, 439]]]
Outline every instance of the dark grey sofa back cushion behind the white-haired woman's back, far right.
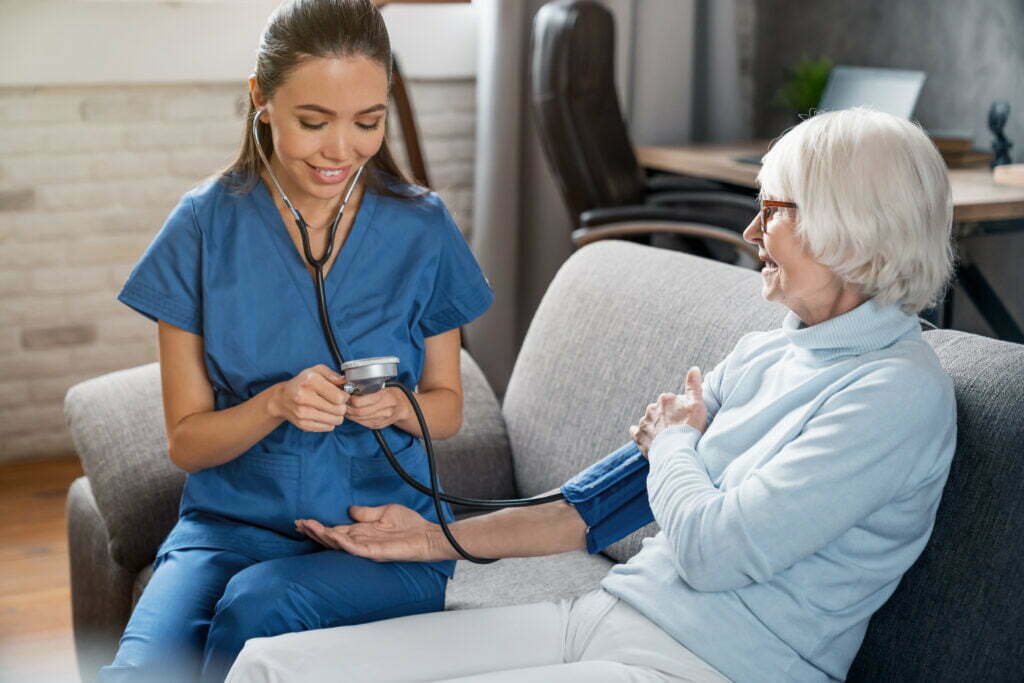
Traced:
[[1024, 680], [1024, 345], [925, 333], [953, 380], [935, 529], [871, 617], [851, 681]]

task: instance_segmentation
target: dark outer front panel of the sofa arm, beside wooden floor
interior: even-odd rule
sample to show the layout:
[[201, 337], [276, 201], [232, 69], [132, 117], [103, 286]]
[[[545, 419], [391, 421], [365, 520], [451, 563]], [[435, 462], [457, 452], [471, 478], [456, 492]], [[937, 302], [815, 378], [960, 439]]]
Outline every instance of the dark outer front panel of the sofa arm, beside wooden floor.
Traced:
[[86, 477], [68, 492], [68, 557], [71, 564], [71, 613], [75, 652], [84, 683], [95, 680], [118, 649], [131, 614], [135, 572], [111, 556], [106, 523]]

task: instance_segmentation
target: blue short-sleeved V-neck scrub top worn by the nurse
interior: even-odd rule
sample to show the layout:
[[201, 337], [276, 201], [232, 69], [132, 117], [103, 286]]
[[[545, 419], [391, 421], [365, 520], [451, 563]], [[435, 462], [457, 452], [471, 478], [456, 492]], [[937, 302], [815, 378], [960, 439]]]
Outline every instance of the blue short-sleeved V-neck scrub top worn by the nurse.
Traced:
[[[437, 195], [364, 193], [325, 289], [342, 356], [396, 355], [415, 387], [424, 340], [469, 323], [494, 299]], [[222, 179], [186, 194], [135, 265], [118, 299], [146, 317], [201, 335], [216, 410], [237, 405], [302, 370], [333, 366], [314, 284], [266, 185], [247, 195]], [[336, 369], [337, 370], [337, 369]], [[419, 439], [384, 430], [395, 457], [429, 485]], [[427, 496], [391, 469], [373, 433], [282, 423], [234, 460], [189, 474], [180, 518], [160, 553], [217, 548], [265, 559], [317, 546], [295, 519], [348, 524], [349, 505], [400, 503], [436, 521]], [[452, 518], [445, 506], [445, 515]], [[454, 562], [436, 567], [449, 577]]]

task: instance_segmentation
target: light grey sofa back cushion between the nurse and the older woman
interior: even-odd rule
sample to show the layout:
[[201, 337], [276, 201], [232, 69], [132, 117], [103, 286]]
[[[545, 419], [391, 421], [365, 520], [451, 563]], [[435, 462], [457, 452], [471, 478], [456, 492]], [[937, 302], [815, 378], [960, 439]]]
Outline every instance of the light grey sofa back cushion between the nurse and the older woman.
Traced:
[[[629, 440], [647, 403], [710, 370], [745, 333], [785, 309], [761, 299], [753, 271], [628, 242], [599, 242], [558, 271], [505, 395], [520, 493], [540, 494]], [[624, 562], [646, 527], [605, 553]]]

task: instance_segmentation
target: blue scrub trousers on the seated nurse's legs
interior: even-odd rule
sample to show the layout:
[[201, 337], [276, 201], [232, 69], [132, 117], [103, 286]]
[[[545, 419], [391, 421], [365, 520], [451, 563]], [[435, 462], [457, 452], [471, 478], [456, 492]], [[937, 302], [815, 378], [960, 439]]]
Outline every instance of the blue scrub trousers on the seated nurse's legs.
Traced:
[[220, 683], [249, 638], [439, 611], [446, 583], [428, 565], [337, 550], [262, 562], [172, 550], [158, 559], [99, 680]]

